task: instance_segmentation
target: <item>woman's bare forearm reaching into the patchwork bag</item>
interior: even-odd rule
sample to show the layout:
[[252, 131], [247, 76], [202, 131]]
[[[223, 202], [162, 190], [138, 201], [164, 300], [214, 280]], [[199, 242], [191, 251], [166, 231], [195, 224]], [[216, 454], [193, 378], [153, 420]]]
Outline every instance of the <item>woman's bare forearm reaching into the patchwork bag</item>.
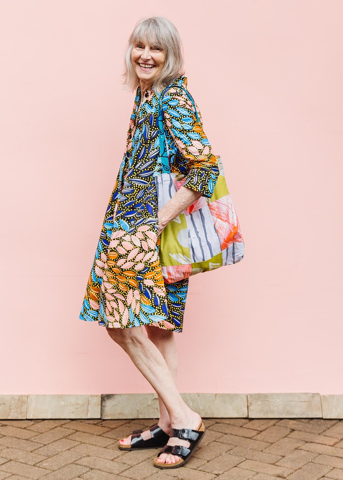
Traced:
[[159, 232], [174, 218], [180, 215], [189, 205], [194, 204], [202, 196], [202, 192], [196, 192], [188, 187], [180, 187], [175, 195], [158, 211]]

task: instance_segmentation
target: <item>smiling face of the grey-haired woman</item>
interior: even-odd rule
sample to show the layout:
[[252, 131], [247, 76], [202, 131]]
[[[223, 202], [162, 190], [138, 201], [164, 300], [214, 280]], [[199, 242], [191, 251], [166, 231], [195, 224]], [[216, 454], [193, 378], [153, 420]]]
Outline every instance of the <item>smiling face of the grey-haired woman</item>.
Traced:
[[153, 84], [163, 67], [165, 54], [156, 45], [140, 42], [132, 48], [131, 60], [138, 78], [147, 84]]

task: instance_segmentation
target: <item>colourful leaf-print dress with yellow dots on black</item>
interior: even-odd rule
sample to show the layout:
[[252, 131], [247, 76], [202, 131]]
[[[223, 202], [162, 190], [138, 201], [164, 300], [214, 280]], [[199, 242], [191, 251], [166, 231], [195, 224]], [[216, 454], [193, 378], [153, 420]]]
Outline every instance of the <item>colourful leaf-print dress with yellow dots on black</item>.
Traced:
[[[211, 197], [219, 175], [217, 159], [203, 132], [199, 109], [196, 106], [197, 122], [191, 100], [178, 86], [186, 87], [187, 77], [176, 78], [162, 97], [171, 172], [186, 176], [184, 186]], [[81, 308], [81, 320], [97, 321], [108, 328], [153, 325], [173, 332], [183, 329], [189, 279], [164, 283], [159, 261], [155, 185], [155, 177], [162, 173], [159, 96], [147, 90], [139, 108], [141, 90], [137, 87], [124, 157]]]

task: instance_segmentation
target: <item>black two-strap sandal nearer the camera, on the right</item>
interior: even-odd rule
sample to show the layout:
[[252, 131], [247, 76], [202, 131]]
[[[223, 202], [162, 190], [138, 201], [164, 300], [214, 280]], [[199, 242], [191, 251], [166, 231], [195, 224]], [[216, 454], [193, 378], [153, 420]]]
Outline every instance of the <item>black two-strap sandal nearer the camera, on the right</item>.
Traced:
[[[169, 435], [170, 438], [177, 437], [182, 438], [182, 440], [187, 440], [190, 445], [189, 447], [185, 447], [184, 445], [165, 445], [162, 450], [159, 452], [159, 455], [154, 458], [154, 467], [157, 468], [178, 468], [181, 467], [189, 460], [190, 456], [194, 452], [196, 445], [199, 444], [202, 437], [205, 433], [205, 425], [201, 422], [199, 430], [192, 430], [190, 428], [182, 428], [180, 430], [176, 430], [172, 428], [172, 432]], [[178, 460], [175, 463], [159, 463], [157, 459], [161, 455], [161, 453], [171, 453], [172, 455], [181, 456], [181, 460]]]

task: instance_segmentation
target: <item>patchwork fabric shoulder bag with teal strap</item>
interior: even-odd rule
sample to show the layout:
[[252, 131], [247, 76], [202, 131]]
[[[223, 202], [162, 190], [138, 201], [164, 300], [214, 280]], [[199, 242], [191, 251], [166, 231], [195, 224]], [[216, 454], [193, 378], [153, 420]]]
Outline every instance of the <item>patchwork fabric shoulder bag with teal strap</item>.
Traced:
[[[199, 121], [193, 97], [184, 87], [178, 88], [182, 88], [191, 99], [196, 120]], [[163, 125], [162, 94], [159, 97], [158, 124], [163, 173], [155, 177], [159, 210], [179, 190], [186, 178], [182, 174], [171, 173], [170, 170]], [[236, 264], [243, 259], [243, 236], [226, 185], [221, 157], [216, 158], [220, 174], [211, 198], [201, 196], [169, 222], [160, 234], [159, 259], [165, 283], [174, 283], [222, 265]]]

